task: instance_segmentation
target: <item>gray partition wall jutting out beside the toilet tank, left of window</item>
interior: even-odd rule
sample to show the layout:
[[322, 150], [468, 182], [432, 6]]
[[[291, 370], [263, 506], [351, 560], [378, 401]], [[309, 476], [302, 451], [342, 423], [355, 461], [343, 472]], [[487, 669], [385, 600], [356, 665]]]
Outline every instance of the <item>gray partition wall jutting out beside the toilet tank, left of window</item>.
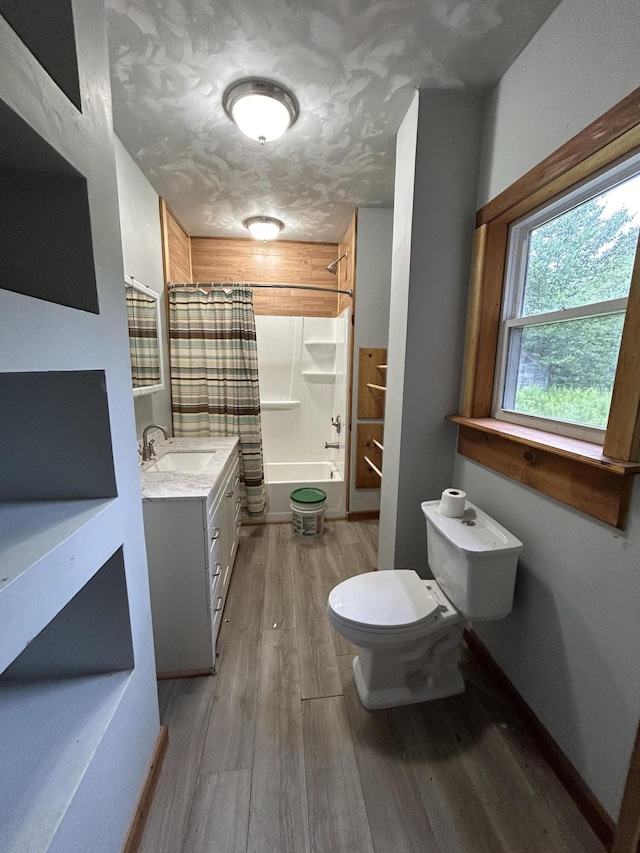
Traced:
[[416, 94], [400, 128], [378, 567], [426, 574], [420, 502], [452, 485], [483, 101]]

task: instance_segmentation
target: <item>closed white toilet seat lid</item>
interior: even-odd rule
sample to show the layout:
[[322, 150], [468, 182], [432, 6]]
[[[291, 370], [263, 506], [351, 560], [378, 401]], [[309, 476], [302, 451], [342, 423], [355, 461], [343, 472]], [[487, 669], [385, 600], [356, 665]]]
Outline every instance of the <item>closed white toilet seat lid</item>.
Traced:
[[366, 572], [339, 583], [329, 594], [333, 616], [371, 634], [410, 634], [434, 622], [440, 603], [410, 569]]

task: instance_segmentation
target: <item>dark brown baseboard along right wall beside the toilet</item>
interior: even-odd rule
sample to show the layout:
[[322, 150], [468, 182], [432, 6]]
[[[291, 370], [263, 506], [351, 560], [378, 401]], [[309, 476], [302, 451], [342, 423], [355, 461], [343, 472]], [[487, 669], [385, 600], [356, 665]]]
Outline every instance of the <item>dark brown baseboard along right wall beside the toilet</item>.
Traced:
[[491, 657], [482, 641], [468, 628], [465, 629], [464, 639], [485, 674], [518, 713], [545, 761], [562, 782], [567, 793], [582, 812], [584, 819], [598, 836], [600, 842], [607, 850], [610, 850], [615, 831], [613, 820], [600, 805], [578, 771], [562, 752], [527, 702]]

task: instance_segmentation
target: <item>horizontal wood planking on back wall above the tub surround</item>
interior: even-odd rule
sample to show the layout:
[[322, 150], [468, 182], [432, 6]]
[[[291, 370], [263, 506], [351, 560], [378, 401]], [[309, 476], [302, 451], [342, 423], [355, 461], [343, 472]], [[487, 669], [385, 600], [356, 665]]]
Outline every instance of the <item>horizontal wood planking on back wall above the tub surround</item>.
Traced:
[[[192, 237], [193, 281], [243, 281], [248, 284], [307, 284], [337, 287], [336, 276], [327, 272], [335, 261], [335, 243], [300, 243], [274, 240], [238, 240]], [[306, 290], [254, 291], [256, 314], [272, 316], [335, 317], [335, 293]]]

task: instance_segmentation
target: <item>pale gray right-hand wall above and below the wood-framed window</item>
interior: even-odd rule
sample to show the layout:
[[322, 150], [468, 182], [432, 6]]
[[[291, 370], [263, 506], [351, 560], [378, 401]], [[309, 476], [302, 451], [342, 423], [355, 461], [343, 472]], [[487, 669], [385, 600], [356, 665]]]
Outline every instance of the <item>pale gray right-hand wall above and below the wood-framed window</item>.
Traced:
[[[495, 91], [484, 204], [640, 84], [637, 0], [564, 0]], [[458, 457], [455, 484], [524, 542], [511, 617], [476, 631], [616, 817], [640, 711], [640, 482], [618, 531]]]

